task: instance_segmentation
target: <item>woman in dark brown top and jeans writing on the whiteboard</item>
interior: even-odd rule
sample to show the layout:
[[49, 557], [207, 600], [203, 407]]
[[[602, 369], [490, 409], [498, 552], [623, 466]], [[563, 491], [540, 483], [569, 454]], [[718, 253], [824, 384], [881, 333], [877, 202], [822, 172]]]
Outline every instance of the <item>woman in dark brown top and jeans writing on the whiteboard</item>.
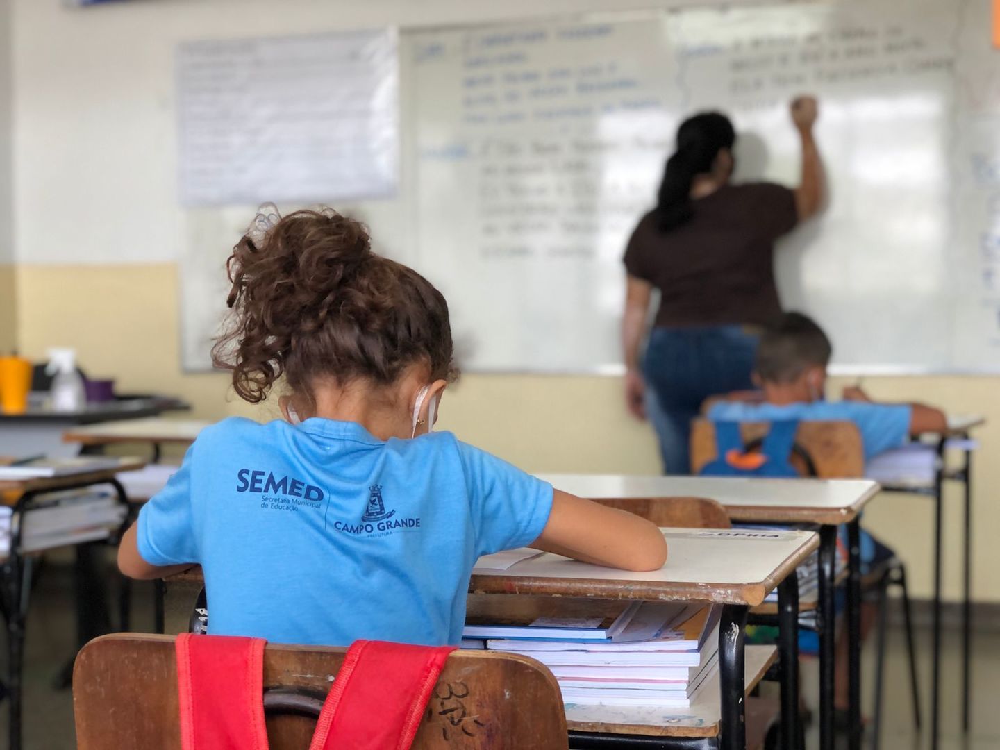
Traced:
[[[625, 251], [625, 397], [656, 429], [668, 474], [690, 471], [690, 425], [704, 400], [752, 387], [759, 332], [781, 312], [774, 242], [822, 204], [816, 100], [796, 99], [791, 115], [802, 141], [795, 188], [730, 181], [736, 133], [725, 115], [681, 123], [656, 208]], [[654, 288], [660, 305], [640, 358]]]

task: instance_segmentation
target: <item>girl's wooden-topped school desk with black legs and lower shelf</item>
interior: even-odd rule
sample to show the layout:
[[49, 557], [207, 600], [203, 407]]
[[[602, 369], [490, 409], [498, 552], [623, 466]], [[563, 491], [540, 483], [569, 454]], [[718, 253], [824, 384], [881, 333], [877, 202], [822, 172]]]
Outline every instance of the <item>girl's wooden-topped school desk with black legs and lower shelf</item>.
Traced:
[[761, 652], [754, 652], [755, 661], [749, 668], [744, 661], [747, 612], [778, 587], [782, 612], [782, 737], [785, 747], [795, 747], [798, 737], [795, 568], [817, 548], [817, 535], [808, 531], [740, 529], [663, 529], [663, 532], [669, 553], [666, 565], [659, 570], [642, 573], [615, 570], [546, 553], [507, 570], [475, 569], [469, 591], [722, 604], [718, 719], [714, 713], [678, 719], [668, 717], [669, 711], [649, 708], [571, 706], [567, 721], [573, 730], [574, 747], [641, 746], [644, 740], [649, 741], [649, 735], [676, 738], [678, 747], [703, 747], [706, 736], [714, 736], [718, 738], [718, 747], [735, 750], [746, 746], [743, 697], [747, 672], [751, 673], [752, 682], [757, 676], [754, 673], [766, 669], [767, 661], [766, 653], [763, 659], [758, 658]]

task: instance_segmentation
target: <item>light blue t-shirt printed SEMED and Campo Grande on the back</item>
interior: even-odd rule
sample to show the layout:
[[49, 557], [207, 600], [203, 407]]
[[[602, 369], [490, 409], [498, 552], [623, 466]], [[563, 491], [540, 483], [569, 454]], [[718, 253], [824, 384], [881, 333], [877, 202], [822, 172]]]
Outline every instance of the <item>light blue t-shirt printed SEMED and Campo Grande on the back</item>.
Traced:
[[138, 546], [202, 565], [211, 633], [458, 644], [476, 559], [535, 541], [551, 509], [550, 484], [448, 432], [232, 418], [143, 507]]

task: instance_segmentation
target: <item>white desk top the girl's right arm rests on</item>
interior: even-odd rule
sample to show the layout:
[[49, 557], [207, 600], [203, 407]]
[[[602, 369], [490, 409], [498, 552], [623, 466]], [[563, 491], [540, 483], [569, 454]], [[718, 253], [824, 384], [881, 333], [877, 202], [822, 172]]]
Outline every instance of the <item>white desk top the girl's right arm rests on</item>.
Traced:
[[507, 570], [476, 569], [469, 590], [756, 606], [819, 546], [811, 531], [662, 531], [668, 555], [659, 570], [616, 570], [545, 553]]

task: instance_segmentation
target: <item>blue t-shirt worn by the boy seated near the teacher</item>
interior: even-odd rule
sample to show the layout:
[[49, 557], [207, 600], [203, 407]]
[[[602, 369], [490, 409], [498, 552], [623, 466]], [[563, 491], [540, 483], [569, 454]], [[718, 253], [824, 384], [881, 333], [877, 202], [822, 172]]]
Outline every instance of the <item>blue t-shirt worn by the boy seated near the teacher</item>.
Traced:
[[913, 409], [906, 404], [871, 404], [866, 401], [814, 401], [797, 404], [751, 404], [720, 401], [708, 412], [715, 422], [799, 421], [854, 422], [861, 433], [865, 461], [903, 445], [910, 435]]

